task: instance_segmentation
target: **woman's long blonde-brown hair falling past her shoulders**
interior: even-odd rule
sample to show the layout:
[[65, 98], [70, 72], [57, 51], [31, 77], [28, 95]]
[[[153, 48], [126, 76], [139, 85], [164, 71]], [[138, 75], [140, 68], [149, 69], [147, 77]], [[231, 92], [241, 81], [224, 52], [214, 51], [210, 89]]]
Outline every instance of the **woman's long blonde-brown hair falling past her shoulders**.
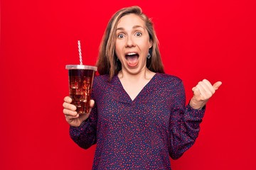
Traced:
[[114, 13], [107, 24], [107, 28], [100, 43], [100, 52], [96, 64], [97, 70], [99, 74], [109, 74], [110, 80], [122, 69], [122, 64], [121, 62], [117, 61], [117, 55], [115, 54], [114, 49], [117, 39], [117, 23], [119, 22], [120, 18], [131, 13], [141, 17], [145, 22], [146, 30], [149, 33], [149, 40], [152, 42], [152, 47], [149, 49], [151, 57], [146, 60], [146, 67], [151, 72], [164, 73], [164, 65], [161, 61], [161, 55], [159, 52], [159, 41], [156, 38], [153, 23], [151, 22], [151, 19], [142, 13], [142, 8], [139, 6], [131, 6], [128, 8], [122, 8]]

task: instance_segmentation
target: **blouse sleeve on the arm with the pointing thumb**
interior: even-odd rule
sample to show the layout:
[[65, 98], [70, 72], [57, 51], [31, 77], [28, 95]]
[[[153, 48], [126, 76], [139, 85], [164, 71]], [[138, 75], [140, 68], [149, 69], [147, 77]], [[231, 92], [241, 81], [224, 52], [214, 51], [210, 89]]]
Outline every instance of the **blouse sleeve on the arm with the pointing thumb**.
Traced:
[[205, 108], [196, 110], [189, 105], [185, 106], [186, 98], [182, 81], [176, 85], [173, 97], [174, 103], [169, 125], [171, 131], [169, 154], [172, 159], [178, 159], [196, 142]]

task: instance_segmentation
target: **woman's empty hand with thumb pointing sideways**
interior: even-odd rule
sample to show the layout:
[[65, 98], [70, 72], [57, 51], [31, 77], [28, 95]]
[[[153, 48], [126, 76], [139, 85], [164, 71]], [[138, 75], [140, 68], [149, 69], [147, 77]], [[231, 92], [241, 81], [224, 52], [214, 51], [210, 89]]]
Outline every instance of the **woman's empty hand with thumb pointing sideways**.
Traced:
[[217, 81], [212, 85], [207, 79], [203, 79], [203, 81], [198, 82], [198, 84], [192, 89], [193, 97], [191, 98], [189, 105], [194, 109], [203, 108], [221, 84], [221, 81]]

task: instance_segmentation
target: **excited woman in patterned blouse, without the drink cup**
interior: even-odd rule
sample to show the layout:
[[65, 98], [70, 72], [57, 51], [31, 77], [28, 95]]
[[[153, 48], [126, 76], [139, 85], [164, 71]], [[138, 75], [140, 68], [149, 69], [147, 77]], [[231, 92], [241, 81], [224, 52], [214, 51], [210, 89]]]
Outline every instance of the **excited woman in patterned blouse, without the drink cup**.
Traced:
[[78, 115], [70, 97], [63, 113], [82, 148], [97, 144], [92, 169], [171, 169], [198, 137], [205, 105], [221, 82], [206, 79], [186, 106], [183, 83], [164, 74], [153, 24], [141, 8], [122, 8], [105, 30], [91, 111]]

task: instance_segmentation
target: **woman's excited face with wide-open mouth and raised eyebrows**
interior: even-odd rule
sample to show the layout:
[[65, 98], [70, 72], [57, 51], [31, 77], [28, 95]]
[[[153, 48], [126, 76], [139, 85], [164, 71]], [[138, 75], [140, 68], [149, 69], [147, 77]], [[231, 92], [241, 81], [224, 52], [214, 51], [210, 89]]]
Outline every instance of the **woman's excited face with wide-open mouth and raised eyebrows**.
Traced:
[[152, 46], [142, 18], [131, 13], [117, 23], [115, 53], [122, 63], [122, 71], [137, 74], [146, 69], [146, 56]]

